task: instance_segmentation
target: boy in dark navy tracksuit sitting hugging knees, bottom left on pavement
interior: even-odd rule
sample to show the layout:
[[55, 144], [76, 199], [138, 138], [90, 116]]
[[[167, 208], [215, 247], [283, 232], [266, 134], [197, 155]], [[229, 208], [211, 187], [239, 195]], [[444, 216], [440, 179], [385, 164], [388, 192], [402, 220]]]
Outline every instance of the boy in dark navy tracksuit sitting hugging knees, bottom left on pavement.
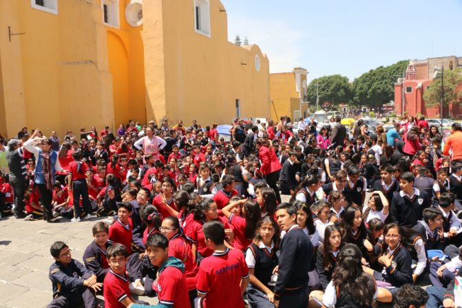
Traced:
[[69, 247], [54, 242], [50, 253], [55, 263], [50, 266], [50, 280], [53, 285], [53, 300], [48, 307], [97, 307], [95, 292], [101, 290], [102, 283], [96, 282], [96, 275], [71, 256]]

